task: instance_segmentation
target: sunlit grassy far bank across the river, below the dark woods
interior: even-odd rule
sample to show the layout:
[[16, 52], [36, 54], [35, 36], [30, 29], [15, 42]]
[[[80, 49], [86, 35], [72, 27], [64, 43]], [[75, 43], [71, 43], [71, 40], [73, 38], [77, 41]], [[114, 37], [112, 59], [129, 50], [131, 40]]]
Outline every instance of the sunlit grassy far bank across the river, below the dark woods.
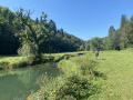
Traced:
[[86, 53], [85, 51], [80, 52], [63, 52], [63, 53], [45, 53], [41, 56], [41, 61], [33, 57], [20, 57], [20, 56], [0, 56], [0, 70], [23, 68], [33, 64], [43, 64], [45, 62], [59, 62], [70, 57], [76, 57]]

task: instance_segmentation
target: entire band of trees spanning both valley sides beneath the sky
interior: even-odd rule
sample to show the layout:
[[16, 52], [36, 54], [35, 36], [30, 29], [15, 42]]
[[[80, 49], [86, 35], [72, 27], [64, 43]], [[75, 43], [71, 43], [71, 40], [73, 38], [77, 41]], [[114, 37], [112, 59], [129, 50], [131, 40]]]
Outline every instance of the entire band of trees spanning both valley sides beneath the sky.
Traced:
[[47, 13], [31, 19], [30, 10], [18, 9], [16, 12], [0, 7], [0, 54], [21, 56], [66, 52], [79, 50], [123, 50], [133, 48], [133, 17], [130, 20], [122, 14], [121, 26], [109, 29], [105, 38], [83, 41], [63, 29], [58, 29]]

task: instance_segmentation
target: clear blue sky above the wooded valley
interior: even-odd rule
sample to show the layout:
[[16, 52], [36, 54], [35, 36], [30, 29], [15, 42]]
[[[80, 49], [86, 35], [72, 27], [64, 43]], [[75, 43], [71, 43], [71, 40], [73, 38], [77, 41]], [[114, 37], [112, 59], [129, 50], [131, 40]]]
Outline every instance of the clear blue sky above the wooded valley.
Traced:
[[31, 10], [32, 19], [43, 11], [58, 29], [83, 40], [106, 37], [111, 26], [119, 29], [122, 14], [133, 16], [133, 0], [0, 0], [0, 6]]

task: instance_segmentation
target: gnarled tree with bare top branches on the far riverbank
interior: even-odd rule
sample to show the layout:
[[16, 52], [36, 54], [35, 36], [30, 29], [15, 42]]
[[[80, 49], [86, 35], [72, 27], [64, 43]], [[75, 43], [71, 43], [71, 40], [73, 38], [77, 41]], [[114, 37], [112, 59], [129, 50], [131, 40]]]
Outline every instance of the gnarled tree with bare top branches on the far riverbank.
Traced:
[[18, 22], [20, 22], [20, 24], [22, 26], [21, 31], [18, 34], [22, 44], [19, 51], [21, 51], [21, 49], [23, 49], [24, 47], [29, 47], [27, 48], [27, 51], [29, 51], [29, 56], [40, 57], [41, 52], [39, 44], [42, 38], [45, 37], [43, 34], [45, 31], [43, 26], [31, 24], [30, 14], [30, 11], [27, 11], [25, 14], [22, 8], [20, 8], [20, 10], [17, 12]]

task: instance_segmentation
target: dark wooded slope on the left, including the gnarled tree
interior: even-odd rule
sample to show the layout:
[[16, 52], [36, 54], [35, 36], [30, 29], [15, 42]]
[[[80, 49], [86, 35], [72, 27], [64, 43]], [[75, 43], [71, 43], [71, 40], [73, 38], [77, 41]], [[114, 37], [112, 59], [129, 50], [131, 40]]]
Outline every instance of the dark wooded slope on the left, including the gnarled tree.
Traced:
[[80, 50], [83, 40], [58, 29], [47, 13], [31, 19], [30, 10], [0, 7], [0, 54], [29, 54]]

